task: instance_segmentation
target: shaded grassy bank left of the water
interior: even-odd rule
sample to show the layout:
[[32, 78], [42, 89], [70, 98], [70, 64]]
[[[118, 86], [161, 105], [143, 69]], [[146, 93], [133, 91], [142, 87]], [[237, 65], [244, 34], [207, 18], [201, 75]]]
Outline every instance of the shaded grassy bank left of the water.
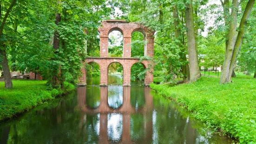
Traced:
[[13, 80], [13, 89], [7, 90], [4, 82], [0, 82], [0, 121], [75, 89], [74, 85], [67, 82], [64, 83], [64, 87], [64, 91], [47, 90], [44, 80]]

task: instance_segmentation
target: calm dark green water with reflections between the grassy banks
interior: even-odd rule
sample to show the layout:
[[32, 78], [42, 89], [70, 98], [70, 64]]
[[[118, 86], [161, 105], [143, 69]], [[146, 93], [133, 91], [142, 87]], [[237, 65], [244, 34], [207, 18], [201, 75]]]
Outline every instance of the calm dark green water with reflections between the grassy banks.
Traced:
[[118, 75], [109, 83], [87, 79], [87, 86], [66, 97], [0, 123], [0, 144], [231, 143], [148, 87], [123, 87]]

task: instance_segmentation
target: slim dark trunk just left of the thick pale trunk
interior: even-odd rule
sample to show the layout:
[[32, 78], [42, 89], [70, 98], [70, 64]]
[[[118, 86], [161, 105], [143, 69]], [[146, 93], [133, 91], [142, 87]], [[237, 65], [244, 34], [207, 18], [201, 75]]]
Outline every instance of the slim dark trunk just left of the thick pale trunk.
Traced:
[[[182, 45], [183, 39], [182, 39], [182, 35], [181, 35], [181, 30], [179, 27], [180, 20], [179, 20], [178, 9], [177, 9], [176, 5], [173, 7], [172, 14], [173, 14], [173, 24], [175, 27], [175, 38], [180, 41], [180, 43], [178, 45], [181, 48], [181, 53], [180, 53], [181, 61], [186, 62], [187, 58], [186, 58], [186, 54], [185, 54], [185, 50], [184, 50], [184, 45]], [[189, 78], [190, 75], [189, 75], [189, 64], [187, 62], [181, 66], [181, 71], [184, 75], [183, 82], [188, 82], [190, 79]]]

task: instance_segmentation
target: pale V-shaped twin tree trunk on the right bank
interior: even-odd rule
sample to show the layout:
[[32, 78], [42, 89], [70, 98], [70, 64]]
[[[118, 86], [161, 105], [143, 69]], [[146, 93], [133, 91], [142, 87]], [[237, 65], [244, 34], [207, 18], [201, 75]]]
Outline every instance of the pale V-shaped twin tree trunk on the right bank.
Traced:
[[230, 33], [229, 33], [229, 44], [226, 49], [225, 60], [223, 63], [223, 72], [221, 73], [220, 83], [229, 83], [231, 82], [231, 75], [234, 70], [234, 65], [236, 64], [236, 57], [240, 51], [241, 44], [243, 41], [244, 28], [246, 26], [247, 20], [249, 18], [249, 14], [253, 7], [255, 0], [249, 0], [245, 7], [242, 19], [239, 25], [239, 32], [236, 37], [236, 16], [237, 16], [237, 5], [238, 0], [233, 0], [232, 11], [231, 11], [231, 22], [230, 22]]

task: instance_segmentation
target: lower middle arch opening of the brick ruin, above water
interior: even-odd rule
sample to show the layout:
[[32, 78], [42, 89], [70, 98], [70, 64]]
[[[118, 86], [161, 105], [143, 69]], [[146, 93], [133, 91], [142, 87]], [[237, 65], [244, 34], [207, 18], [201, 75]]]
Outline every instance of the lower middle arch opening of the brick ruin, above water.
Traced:
[[108, 85], [123, 85], [123, 66], [113, 62], [108, 66]]

